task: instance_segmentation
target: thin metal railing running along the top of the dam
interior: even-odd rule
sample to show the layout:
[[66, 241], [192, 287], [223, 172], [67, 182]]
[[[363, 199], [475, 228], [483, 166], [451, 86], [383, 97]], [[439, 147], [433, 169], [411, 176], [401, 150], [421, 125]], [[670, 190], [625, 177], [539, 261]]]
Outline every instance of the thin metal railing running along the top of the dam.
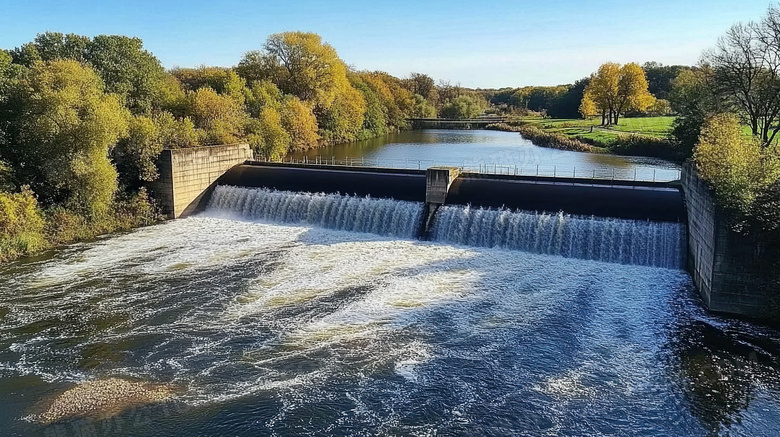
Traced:
[[425, 170], [429, 167], [445, 166], [457, 167], [461, 172], [473, 172], [489, 175], [539, 176], [626, 182], [671, 182], [679, 180], [681, 176], [680, 170], [677, 169], [659, 169], [655, 167], [643, 166], [633, 166], [630, 169], [595, 167], [577, 169], [577, 167], [574, 166], [558, 164], [506, 165], [484, 162], [447, 162], [433, 159], [380, 159], [365, 157], [337, 158], [335, 156], [304, 156], [301, 158], [287, 158], [284, 160], [275, 161], [256, 158], [256, 161], [314, 166], [370, 167], [407, 170]]

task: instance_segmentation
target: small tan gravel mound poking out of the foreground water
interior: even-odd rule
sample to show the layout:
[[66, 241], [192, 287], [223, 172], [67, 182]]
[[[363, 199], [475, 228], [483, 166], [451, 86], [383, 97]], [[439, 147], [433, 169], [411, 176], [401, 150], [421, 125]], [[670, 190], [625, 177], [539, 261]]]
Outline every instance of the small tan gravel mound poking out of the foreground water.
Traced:
[[65, 390], [44, 411], [31, 416], [37, 422], [52, 423], [77, 417], [114, 416], [122, 411], [163, 402], [175, 394], [173, 386], [133, 382], [119, 378], [88, 381]]

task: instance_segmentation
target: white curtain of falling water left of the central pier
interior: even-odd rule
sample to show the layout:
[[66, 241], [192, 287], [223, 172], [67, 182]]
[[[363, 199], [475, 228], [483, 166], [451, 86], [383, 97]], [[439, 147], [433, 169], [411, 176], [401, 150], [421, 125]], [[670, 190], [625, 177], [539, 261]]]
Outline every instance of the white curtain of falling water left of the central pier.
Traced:
[[220, 185], [211, 195], [207, 211], [228, 212], [249, 220], [300, 223], [411, 239], [417, 237], [423, 205], [392, 199]]

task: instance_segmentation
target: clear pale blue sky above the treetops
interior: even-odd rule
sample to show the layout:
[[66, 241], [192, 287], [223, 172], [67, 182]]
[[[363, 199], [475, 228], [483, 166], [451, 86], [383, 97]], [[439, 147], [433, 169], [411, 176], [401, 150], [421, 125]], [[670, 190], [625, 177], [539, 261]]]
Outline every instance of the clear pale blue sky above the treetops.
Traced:
[[317, 32], [348, 64], [469, 87], [554, 85], [601, 63], [694, 64], [769, 2], [0, 0], [0, 48], [46, 30], [138, 36], [167, 67], [231, 66], [269, 34]]

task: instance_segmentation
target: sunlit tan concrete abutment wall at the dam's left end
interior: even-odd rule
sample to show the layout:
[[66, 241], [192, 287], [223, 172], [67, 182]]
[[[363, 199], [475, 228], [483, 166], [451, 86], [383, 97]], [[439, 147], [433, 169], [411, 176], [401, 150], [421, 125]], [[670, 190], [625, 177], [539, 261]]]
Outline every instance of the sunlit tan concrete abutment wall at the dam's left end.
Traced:
[[252, 158], [248, 144], [166, 149], [158, 159], [160, 178], [152, 191], [169, 218], [185, 217], [208, 198], [220, 176]]

